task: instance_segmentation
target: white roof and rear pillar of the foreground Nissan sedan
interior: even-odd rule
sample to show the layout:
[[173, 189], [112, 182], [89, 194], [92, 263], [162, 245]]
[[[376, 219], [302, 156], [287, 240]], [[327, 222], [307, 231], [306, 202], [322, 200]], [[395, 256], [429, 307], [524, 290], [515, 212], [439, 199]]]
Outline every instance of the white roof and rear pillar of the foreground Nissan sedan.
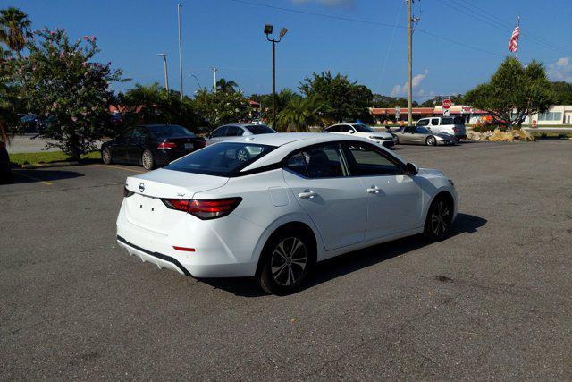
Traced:
[[[372, 140], [367, 140], [366, 138], [354, 137], [348, 135], [340, 134], [328, 134], [324, 132], [281, 132], [278, 134], [259, 134], [259, 135], [249, 135], [248, 137], [237, 137], [230, 140], [224, 140], [224, 142], [235, 142], [235, 143], [253, 143], [260, 145], [274, 146], [276, 149], [261, 157], [254, 163], [251, 163], [247, 167], [243, 168], [241, 172], [253, 170], [258, 167], [270, 166], [275, 163], [282, 161], [282, 159], [288, 156], [292, 151], [297, 149], [302, 149], [310, 145], [315, 145], [319, 143], [328, 142], [339, 142], [355, 140], [366, 142], [369, 144], [375, 143]], [[382, 149], [382, 145], [377, 145]], [[395, 156], [395, 154], [393, 154]]]

